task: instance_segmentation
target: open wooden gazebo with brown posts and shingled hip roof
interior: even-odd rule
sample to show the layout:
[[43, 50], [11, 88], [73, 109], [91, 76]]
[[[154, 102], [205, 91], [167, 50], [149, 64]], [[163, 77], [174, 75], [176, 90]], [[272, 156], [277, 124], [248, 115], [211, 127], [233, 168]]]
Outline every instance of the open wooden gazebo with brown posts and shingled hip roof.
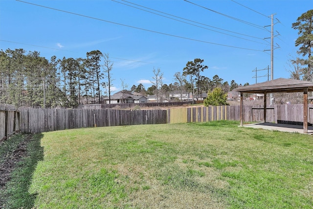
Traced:
[[308, 92], [313, 92], [313, 82], [278, 78], [250, 86], [242, 86], [233, 91], [240, 92], [240, 125], [244, 124], [244, 93], [264, 93], [264, 122], [266, 122], [267, 94], [303, 92], [303, 133], [308, 133]]

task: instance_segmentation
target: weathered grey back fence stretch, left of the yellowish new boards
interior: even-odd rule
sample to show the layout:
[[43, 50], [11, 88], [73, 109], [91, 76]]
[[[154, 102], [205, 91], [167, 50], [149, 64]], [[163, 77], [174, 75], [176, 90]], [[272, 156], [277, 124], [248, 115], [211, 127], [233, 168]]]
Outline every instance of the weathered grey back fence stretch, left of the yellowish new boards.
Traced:
[[166, 123], [166, 110], [20, 109], [22, 133]]

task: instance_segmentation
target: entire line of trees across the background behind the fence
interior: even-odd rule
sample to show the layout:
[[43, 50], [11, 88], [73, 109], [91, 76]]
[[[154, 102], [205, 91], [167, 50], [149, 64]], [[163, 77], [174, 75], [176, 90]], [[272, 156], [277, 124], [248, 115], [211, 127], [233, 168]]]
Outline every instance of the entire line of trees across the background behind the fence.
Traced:
[[[298, 30], [299, 37], [295, 46], [302, 57], [290, 60], [292, 79], [313, 81], [313, 10], [303, 13], [292, 28]], [[192, 93], [199, 99], [201, 93], [212, 92], [220, 88], [222, 93], [232, 91], [239, 85], [232, 80], [230, 84], [218, 75], [211, 79], [202, 72], [208, 67], [204, 60], [196, 58], [187, 62], [181, 72], [174, 74], [174, 83], [164, 84], [163, 73], [153, 69], [153, 84], [147, 90], [142, 84], [133, 85], [129, 91], [143, 95], [156, 94], [158, 101], [168, 99], [169, 93]], [[101, 102], [101, 95], [108, 96], [109, 103], [112, 94], [112, 67], [109, 54], [99, 50], [86, 53], [86, 58], [50, 60], [40, 56], [37, 51], [26, 53], [24, 49], [6, 49], [0, 51], [0, 104], [13, 104], [16, 107], [33, 108], [75, 108], [85, 98], [86, 103]], [[104, 81], [105, 80], [105, 81]], [[121, 80], [123, 90], [127, 90]], [[244, 84], [249, 85], [248, 83]], [[105, 92], [101, 92], [105, 89]], [[278, 98], [277, 95], [276, 98]], [[182, 100], [182, 98], [179, 98]], [[280, 99], [284, 103], [285, 99]], [[290, 100], [290, 98], [289, 98]]]

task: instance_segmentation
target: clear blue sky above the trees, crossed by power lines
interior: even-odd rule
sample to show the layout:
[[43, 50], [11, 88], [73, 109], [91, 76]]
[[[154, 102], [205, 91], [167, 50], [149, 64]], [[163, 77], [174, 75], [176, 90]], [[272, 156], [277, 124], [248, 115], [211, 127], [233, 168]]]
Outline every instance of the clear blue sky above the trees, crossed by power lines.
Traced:
[[175, 72], [195, 58], [204, 60], [202, 75], [210, 79], [254, 84], [253, 70], [270, 66], [269, 16], [275, 14], [280, 46], [273, 78], [289, 78], [289, 60], [298, 56], [291, 24], [310, 9], [312, 0], [0, 0], [0, 48], [39, 51], [48, 60], [86, 58], [98, 49], [113, 63], [116, 90], [121, 79], [147, 89], [154, 68], [163, 83], [174, 83]]

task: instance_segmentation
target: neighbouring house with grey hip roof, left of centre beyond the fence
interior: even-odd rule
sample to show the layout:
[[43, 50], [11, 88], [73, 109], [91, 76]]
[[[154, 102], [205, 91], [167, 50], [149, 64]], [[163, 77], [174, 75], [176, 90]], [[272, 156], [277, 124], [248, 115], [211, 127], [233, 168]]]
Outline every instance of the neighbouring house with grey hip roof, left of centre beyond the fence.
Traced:
[[[111, 95], [111, 104], [122, 104], [122, 103], [145, 103], [147, 97], [144, 95], [134, 95], [129, 91], [120, 91]], [[104, 103], [109, 104], [109, 98], [104, 99]]]

